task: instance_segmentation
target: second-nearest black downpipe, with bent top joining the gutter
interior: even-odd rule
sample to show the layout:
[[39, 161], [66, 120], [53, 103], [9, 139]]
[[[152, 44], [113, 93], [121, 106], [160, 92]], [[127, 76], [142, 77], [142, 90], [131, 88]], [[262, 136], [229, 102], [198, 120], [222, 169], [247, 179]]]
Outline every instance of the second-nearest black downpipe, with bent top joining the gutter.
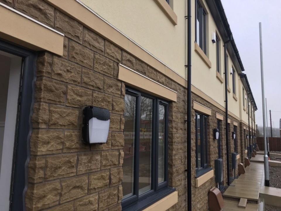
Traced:
[[229, 182], [229, 140], [228, 140], [228, 105], [227, 105], [227, 76], [228, 76], [228, 67], [227, 67], [227, 57], [226, 57], [226, 44], [232, 40], [232, 36], [229, 40], [225, 42], [225, 137], [226, 137], [226, 163], [227, 163], [227, 186], [230, 185]]

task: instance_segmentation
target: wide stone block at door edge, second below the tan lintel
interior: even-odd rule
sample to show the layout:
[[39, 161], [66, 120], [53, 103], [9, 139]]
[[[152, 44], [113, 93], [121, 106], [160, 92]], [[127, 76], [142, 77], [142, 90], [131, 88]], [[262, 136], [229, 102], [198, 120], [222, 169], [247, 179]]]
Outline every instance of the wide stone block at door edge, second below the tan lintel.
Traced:
[[58, 81], [37, 78], [35, 82], [35, 99], [46, 103], [64, 105], [66, 94], [65, 84]]

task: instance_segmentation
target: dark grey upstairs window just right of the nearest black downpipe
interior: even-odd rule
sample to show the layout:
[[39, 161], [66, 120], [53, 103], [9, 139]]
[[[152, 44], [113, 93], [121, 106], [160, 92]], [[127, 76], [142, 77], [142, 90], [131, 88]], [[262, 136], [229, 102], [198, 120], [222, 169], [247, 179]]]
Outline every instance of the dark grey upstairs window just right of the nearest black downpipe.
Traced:
[[195, 5], [195, 41], [206, 54], [206, 13], [198, 0]]

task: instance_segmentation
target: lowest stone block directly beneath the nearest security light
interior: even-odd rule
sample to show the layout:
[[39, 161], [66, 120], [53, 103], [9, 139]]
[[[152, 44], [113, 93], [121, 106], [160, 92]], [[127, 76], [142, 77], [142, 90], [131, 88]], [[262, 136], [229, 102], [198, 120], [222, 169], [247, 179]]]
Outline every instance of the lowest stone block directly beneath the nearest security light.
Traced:
[[87, 195], [83, 198], [74, 201], [74, 211], [95, 211], [98, 208], [98, 198], [97, 193]]

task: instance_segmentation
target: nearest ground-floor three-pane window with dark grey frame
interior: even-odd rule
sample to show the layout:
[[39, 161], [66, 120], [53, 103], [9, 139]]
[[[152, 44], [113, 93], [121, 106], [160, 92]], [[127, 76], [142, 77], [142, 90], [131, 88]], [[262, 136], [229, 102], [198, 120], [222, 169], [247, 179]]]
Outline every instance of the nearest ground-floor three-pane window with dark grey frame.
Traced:
[[122, 210], [142, 210], [168, 187], [168, 102], [126, 88]]

